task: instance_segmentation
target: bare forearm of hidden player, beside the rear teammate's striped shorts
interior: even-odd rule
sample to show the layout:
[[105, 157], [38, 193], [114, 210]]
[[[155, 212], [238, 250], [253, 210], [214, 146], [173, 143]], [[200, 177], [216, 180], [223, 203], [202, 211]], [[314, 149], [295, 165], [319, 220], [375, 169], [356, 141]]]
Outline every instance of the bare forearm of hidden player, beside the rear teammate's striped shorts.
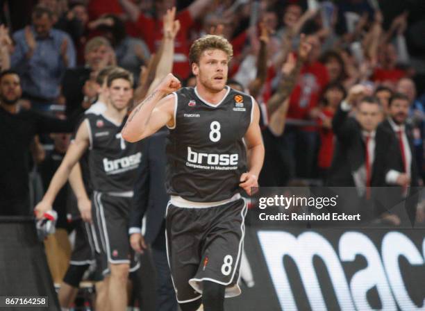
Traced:
[[71, 173], [69, 174], [69, 185], [72, 187], [72, 191], [77, 199], [78, 210], [80, 211], [81, 218], [83, 221], [92, 222], [92, 202], [88, 198], [87, 192], [85, 191], [83, 176], [81, 175], [81, 166], [77, 162], [74, 165]]

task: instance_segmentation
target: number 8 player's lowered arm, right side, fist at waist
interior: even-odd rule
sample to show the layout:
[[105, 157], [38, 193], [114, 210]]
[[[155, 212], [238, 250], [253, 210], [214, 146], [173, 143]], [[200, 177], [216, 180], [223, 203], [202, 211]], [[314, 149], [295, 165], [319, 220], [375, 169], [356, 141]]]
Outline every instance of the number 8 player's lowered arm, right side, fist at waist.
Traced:
[[258, 187], [258, 175], [264, 162], [264, 144], [260, 130], [260, 109], [258, 104], [253, 102], [253, 117], [249, 125], [244, 140], [248, 149], [249, 171], [240, 176], [240, 184], [247, 194], [251, 195], [251, 187]]

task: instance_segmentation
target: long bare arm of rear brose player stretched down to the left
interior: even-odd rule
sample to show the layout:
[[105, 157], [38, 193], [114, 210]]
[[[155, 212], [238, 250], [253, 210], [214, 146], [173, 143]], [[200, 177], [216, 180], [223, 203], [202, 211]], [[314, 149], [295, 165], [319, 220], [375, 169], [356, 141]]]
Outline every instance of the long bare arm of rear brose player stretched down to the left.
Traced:
[[53, 204], [53, 201], [55, 201], [56, 195], [67, 182], [72, 168], [74, 165], [76, 165], [76, 162], [80, 160], [81, 155], [83, 155], [84, 151], [88, 149], [88, 146], [89, 133], [87, 124], [85, 124], [84, 121], [78, 128], [74, 143], [69, 146], [69, 149], [65, 154], [65, 158], [63, 158], [60, 167], [54, 174], [53, 178], [51, 178], [49, 189], [47, 190], [46, 194], [44, 194], [42, 201], [40, 201], [40, 203], [35, 206], [35, 216], [38, 219], [42, 218], [44, 212], [51, 210], [51, 205]]

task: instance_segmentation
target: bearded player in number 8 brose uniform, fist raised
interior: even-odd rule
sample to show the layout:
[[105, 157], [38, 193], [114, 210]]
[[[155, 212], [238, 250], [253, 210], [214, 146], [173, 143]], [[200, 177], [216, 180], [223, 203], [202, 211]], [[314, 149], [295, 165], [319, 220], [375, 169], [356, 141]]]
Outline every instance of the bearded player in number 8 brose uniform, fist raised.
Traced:
[[[137, 142], [163, 126], [167, 137], [167, 254], [183, 311], [220, 311], [238, 287], [247, 205], [263, 165], [254, 99], [226, 86], [231, 44], [206, 35], [190, 48], [196, 87], [169, 74], [133, 110], [122, 131]], [[169, 94], [172, 93], [172, 94]], [[249, 158], [247, 160], [247, 151]]]

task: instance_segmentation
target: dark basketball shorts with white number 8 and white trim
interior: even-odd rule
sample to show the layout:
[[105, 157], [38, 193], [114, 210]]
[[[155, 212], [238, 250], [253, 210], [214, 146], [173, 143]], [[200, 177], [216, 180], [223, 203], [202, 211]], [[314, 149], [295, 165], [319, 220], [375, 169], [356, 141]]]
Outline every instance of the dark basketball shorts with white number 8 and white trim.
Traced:
[[238, 296], [244, 241], [244, 199], [208, 208], [167, 207], [167, 257], [178, 303], [202, 296], [202, 281], [226, 285]]

